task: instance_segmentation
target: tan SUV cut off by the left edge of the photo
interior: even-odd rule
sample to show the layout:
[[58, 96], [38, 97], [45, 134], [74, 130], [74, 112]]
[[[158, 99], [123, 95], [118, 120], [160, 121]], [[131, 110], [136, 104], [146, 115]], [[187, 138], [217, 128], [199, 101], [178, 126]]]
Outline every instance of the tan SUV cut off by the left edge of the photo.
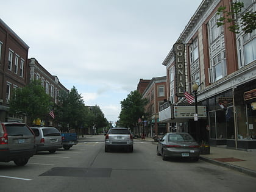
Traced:
[[34, 132], [24, 123], [0, 123], [0, 162], [26, 165], [35, 154]]

